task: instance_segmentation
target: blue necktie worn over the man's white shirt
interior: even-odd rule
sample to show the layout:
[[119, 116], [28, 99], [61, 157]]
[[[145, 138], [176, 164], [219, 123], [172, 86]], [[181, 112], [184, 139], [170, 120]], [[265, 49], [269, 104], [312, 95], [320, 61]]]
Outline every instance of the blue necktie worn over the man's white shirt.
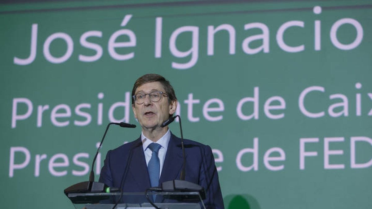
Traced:
[[151, 159], [148, 162], [147, 170], [148, 176], [150, 177], [151, 187], [159, 186], [159, 176], [160, 176], [160, 160], [158, 157], [158, 152], [161, 145], [156, 143], [151, 143], [148, 145], [148, 148], [153, 151]]

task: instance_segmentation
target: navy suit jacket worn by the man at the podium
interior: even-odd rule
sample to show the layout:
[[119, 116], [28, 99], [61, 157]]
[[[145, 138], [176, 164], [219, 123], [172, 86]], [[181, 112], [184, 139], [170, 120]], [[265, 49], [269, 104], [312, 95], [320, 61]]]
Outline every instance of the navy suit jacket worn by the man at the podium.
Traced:
[[[224, 209], [211, 147], [188, 139], [184, 140], [184, 146], [185, 180], [205, 188], [206, 199], [203, 202], [206, 208]], [[171, 134], [159, 185], [164, 181], [180, 179], [182, 165], [181, 139]], [[121, 187], [124, 192], [145, 192], [151, 187], [141, 138], [108, 151], [99, 181], [109, 187]]]

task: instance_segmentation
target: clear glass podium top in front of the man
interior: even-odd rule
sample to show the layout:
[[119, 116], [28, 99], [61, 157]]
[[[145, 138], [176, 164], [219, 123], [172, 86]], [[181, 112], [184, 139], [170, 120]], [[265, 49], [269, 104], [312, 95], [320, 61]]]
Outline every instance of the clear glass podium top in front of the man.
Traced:
[[199, 192], [69, 193], [67, 197], [76, 209], [113, 209], [115, 205], [115, 209], [205, 209]]

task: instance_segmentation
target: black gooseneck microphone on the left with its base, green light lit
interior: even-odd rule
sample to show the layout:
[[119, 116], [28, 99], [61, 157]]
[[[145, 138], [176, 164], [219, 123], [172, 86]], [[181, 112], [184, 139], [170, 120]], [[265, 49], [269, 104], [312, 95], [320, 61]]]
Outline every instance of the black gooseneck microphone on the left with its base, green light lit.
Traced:
[[94, 163], [96, 162], [97, 155], [99, 153], [99, 150], [102, 147], [103, 140], [105, 139], [105, 136], [107, 134], [107, 131], [109, 130], [110, 125], [118, 125], [118, 126], [123, 127], [123, 128], [135, 128], [136, 127], [136, 125], [134, 125], [134, 124], [124, 123], [124, 122], [121, 122], [121, 123], [111, 122], [107, 125], [105, 134], [103, 134], [101, 143], [99, 144], [99, 147], [97, 148], [96, 155], [94, 155], [94, 158], [93, 158], [92, 169], [90, 170], [90, 175], [89, 175], [89, 181], [83, 181], [83, 182], [80, 182], [80, 183], [76, 183], [74, 185], [71, 185], [70, 187], [67, 187], [64, 190], [65, 195], [73, 203], [89, 203], [89, 201], [86, 200], [86, 199], [79, 199], [77, 197], [69, 197], [68, 194], [70, 194], [70, 193], [89, 193], [89, 192], [97, 192], [97, 193], [107, 192], [107, 193], [109, 193], [109, 192], [114, 192], [114, 191], [119, 190], [118, 188], [113, 188], [113, 187], [110, 188], [107, 185], [105, 185], [104, 183], [94, 181], [94, 171], [93, 171], [94, 170]]

